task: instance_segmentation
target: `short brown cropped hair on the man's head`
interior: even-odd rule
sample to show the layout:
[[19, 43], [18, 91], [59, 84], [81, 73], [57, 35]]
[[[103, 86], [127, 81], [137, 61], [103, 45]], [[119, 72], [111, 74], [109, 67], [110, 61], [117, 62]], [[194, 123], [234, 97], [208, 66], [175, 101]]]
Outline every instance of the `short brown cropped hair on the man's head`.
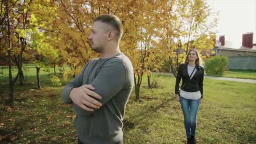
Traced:
[[94, 19], [93, 23], [95, 21], [101, 21], [101, 22], [107, 23], [110, 26], [112, 26], [116, 31], [115, 34], [117, 36], [117, 39], [120, 40], [120, 38], [123, 35], [123, 26], [122, 26], [122, 22], [120, 21], [120, 19], [117, 16], [115, 16], [113, 14], [104, 14], [104, 15], [100, 15], [96, 19]]

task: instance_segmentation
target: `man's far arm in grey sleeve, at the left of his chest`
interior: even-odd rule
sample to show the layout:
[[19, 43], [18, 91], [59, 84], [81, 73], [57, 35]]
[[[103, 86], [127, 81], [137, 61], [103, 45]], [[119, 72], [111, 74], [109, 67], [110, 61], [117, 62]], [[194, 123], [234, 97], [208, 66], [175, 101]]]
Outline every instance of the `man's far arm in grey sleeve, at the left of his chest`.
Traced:
[[[87, 67], [87, 65], [85, 66], [85, 68]], [[72, 104], [72, 100], [69, 98], [69, 93], [73, 88], [78, 88], [80, 86], [83, 85], [83, 74], [85, 72], [85, 68], [82, 70], [82, 72], [80, 73], [80, 75], [78, 75], [77, 77], [75, 77], [69, 84], [67, 84], [61, 93], [61, 98], [62, 101], [64, 101], [64, 103], [66, 104]]]

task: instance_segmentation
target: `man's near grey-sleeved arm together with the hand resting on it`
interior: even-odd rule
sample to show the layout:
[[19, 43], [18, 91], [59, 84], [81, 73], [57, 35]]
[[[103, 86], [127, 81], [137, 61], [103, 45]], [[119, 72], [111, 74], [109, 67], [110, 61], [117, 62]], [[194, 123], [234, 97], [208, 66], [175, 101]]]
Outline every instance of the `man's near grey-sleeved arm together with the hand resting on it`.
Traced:
[[73, 95], [70, 93], [70, 98], [77, 106], [85, 110], [83, 115], [91, 115], [123, 88], [125, 80], [126, 70], [121, 62], [105, 64], [91, 85], [74, 88], [71, 91]]

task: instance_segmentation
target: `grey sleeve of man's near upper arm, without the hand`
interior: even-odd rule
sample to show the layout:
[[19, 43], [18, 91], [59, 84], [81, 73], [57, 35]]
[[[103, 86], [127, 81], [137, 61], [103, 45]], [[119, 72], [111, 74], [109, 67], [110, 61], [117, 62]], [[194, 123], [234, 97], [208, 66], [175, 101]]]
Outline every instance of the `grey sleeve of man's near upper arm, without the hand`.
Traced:
[[102, 99], [98, 101], [104, 105], [123, 88], [126, 80], [125, 66], [121, 62], [111, 62], [104, 65], [91, 85], [94, 92]]

